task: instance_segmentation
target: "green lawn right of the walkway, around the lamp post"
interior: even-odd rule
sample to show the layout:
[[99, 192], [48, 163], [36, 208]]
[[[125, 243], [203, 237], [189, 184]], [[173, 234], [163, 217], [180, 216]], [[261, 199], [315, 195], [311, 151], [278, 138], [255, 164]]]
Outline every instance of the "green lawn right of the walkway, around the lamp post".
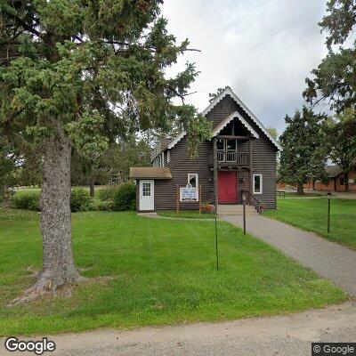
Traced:
[[356, 250], [356, 200], [332, 198], [329, 234], [328, 199], [279, 198], [278, 206], [264, 214]]

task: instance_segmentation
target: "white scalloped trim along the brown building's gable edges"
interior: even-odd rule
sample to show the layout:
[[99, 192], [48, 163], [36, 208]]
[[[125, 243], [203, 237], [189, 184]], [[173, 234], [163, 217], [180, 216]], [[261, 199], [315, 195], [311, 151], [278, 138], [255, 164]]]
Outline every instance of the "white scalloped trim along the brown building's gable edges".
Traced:
[[[220, 95], [218, 95], [212, 102], [210, 102], [209, 106], [201, 113], [201, 115], [206, 116], [208, 114], [209, 111], [211, 111], [212, 109], [214, 109], [214, 107], [223, 100], [223, 98], [227, 95], [230, 95], [231, 98], [236, 101], [239, 106], [241, 107], [241, 109], [243, 109], [247, 115], [249, 117], [251, 117], [251, 119], [255, 122], [255, 124], [263, 131], [263, 134], [265, 134], [269, 140], [274, 144], [274, 146], [276, 146], [276, 148], [278, 150], [282, 150], [282, 147], [280, 146], [279, 142], [277, 142], [272, 136], [271, 134], [268, 132], [267, 128], [261, 123], [261, 121], [255, 117], [255, 115], [252, 113], [252, 111], [250, 111], [250, 109], [247, 108], [247, 106], [239, 99], [239, 97], [231, 90], [230, 86], [227, 86], [226, 89], [223, 91], [223, 93], [221, 93]], [[236, 111], [237, 112], [237, 111]], [[229, 116], [230, 117], [230, 116]], [[233, 118], [233, 117], [232, 117]], [[241, 115], [239, 115], [239, 120], [241, 121]], [[227, 118], [226, 118], [227, 119]], [[225, 119], [225, 120], [226, 120]], [[224, 121], [225, 121], [224, 120]], [[224, 122], [223, 121], [223, 122]], [[246, 120], [244, 119], [244, 121], [246, 122]], [[242, 122], [242, 121], [241, 121]], [[244, 124], [245, 125], [245, 124]], [[220, 126], [220, 125], [219, 125]], [[250, 126], [251, 127], [251, 126]], [[252, 127], [251, 127], [252, 128]], [[248, 128], [247, 128], [248, 129]], [[214, 131], [216, 130], [216, 128], [214, 129]], [[254, 130], [255, 131], [255, 130]], [[171, 143], [168, 144], [167, 149], [171, 150], [172, 148], [174, 148], [174, 146], [180, 142], [182, 140], [182, 138], [186, 135], [187, 133], [185, 131], [182, 131], [181, 134], [179, 134]]]

